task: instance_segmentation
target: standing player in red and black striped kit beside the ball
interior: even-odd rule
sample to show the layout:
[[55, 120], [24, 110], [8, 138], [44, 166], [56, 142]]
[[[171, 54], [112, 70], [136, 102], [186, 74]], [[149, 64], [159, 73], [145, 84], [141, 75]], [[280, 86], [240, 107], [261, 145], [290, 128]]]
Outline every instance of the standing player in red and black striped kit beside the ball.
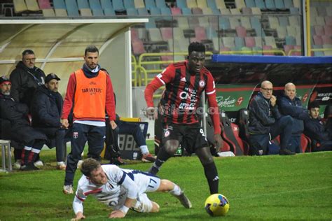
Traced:
[[[198, 106], [205, 90], [209, 102], [209, 113], [214, 123], [216, 146], [222, 147], [219, 108], [216, 103], [216, 90], [212, 74], [204, 67], [205, 45], [193, 42], [188, 47], [188, 61], [170, 64], [146, 86], [144, 92], [146, 113], [150, 119], [156, 118], [153, 107], [153, 92], [162, 85], [166, 89], [160, 101], [162, 108], [162, 148], [149, 170], [158, 173], [160, 166], [167, 161], [179, 147], [179, 142], [186, 141], [186, 150], [198, 155], [211, 194], [218, 192], [219, 178], [214, 159], [209, 150], [207, 138], [198, 121]], [[200, 111], [202, 113], [202, 111]]]

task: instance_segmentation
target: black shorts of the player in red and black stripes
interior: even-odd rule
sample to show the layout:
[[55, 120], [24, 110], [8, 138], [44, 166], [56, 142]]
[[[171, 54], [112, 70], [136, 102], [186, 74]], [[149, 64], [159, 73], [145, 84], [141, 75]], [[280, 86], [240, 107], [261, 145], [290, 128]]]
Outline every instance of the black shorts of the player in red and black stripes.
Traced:
[[178, 140], [184, 144], [184, 148], [189, 153], [194, 153], [199, 148], [208, 147], [207, 137], [200, 124], [162, 124], [164, 132], [162, 143], [168, 140]]

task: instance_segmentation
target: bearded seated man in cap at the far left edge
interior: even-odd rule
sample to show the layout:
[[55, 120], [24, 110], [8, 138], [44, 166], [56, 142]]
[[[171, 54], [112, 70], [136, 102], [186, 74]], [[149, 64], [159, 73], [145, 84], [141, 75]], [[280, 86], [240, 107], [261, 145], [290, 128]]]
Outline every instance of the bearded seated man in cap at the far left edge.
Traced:
[[7, 129], [9, 138], [25, 146], [22, 150], [20, 169], [23, 171], [36, 170], [38, 168], [34, 166], [34, 161], [46, 143], [47, 137], [30, 126], [27, 105], [18, 103], [11, 97], [11, 81], [2, 76], [0, 86], [1, 121], [10, 122], [10, 127]]

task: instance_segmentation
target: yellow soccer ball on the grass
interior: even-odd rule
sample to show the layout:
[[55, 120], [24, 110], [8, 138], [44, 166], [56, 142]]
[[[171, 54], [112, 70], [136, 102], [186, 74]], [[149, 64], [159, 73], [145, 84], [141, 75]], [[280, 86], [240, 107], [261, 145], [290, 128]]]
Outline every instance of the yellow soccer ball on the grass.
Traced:
[[222, 194], [212, 194], [205, 201], [205, 210], [211, 216], [226, 215], [230, 208], [228, 199]]

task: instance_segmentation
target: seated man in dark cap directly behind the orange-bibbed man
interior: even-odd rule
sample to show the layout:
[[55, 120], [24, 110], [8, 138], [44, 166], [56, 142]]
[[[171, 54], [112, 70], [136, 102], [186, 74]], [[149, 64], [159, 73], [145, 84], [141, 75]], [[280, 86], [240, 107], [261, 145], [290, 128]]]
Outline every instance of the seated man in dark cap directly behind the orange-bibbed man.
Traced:
[[64, 134], [60, 122], [63, 99], [57, 92], [60, 78], [55, 73], [46, 76], [45, 85], [37, 87], [32, 99], [32, 127], [43, 131], [50, 141], [49, 147], [56, 148], [57, 169], [66, 169], [64, 164]]

